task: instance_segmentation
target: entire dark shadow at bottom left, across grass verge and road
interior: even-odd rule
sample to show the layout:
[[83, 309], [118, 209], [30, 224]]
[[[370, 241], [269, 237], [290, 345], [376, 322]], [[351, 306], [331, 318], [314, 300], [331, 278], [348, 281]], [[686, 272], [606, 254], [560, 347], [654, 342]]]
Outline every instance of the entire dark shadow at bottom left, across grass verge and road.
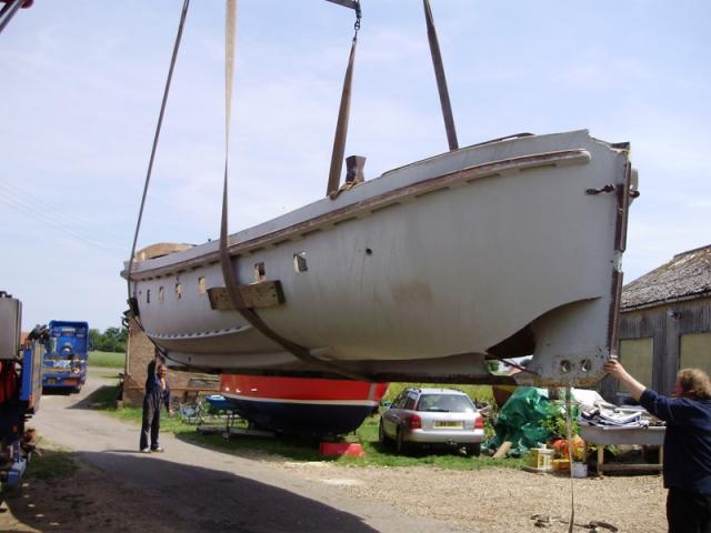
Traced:
[[[43, 464], [30, 464], [23, 486], [2, 494], [10, 513], [0, 513], [0, 531], [377, 531], [359, 516], [316, 500], [156, 454], [42, 453]], [[77, 473], [79, 461], [100, 470]], [[120, 524], [126, 529], [116, 530]]]

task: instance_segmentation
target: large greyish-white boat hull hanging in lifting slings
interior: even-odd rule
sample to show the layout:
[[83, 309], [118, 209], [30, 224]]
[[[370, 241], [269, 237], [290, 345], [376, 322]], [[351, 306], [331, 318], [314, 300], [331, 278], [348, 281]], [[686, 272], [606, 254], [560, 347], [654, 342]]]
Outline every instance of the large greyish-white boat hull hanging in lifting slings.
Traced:
[[171, 361], [214, 372], [494, 383], [488, 360], [532, 354], [517, 382], [585, 386], [615, 351], [635, 193], [627, 143], [514, 135], [234, 233], [222, 260], [218, 240], [149, 247], [132, 306]]

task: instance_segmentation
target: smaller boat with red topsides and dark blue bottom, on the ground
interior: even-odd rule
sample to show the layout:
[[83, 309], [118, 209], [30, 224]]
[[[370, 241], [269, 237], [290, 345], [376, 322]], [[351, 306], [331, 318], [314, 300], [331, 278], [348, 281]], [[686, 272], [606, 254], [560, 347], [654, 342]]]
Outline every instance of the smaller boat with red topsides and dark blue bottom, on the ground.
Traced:
[[[389, 383], [222, 374], [220, 406], [253, 425], [308, 435], [356, 431], [378, 410]], [[210, 402], [212, 403], [212, 402]]]

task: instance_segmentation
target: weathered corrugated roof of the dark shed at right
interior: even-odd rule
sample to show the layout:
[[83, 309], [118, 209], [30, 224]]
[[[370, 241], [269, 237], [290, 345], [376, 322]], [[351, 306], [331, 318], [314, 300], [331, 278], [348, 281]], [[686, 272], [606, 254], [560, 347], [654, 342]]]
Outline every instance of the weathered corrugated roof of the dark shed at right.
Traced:
[[711, 244], [679, 253], [622, 289], [622, 310], [711, 295]]

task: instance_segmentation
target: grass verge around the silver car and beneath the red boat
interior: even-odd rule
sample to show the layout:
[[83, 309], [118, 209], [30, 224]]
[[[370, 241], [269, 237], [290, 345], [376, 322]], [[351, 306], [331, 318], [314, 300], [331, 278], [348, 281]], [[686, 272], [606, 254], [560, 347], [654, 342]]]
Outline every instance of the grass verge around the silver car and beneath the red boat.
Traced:
[[[415, 386], [414, 384], [399, 383], [393, 388], [394, 390], [388, 394], [388, 398], [394, 398], [404, 386]], [[417, 384], [417, 386], [423, 386], [423, 384]], [[491, 395], [490, 386], [458, 386], [458, 389], [465, 390], [472, 398], [480, 400], [488, 400]], [[112, 416], [116, 416], [126, 422], [136, 424], [137, 433], [141, 423], [141, 409], [139, 408], [122, 408], [114, 409], [116, 405], [116, 388], [102, 388], [91, 396], [93, 404], [102, 404], [103, 411], [108, 412]], [[264, 438], [248, 438], [248, 436], [233, 436], [226, 440], [220, 433], [201, 435], [196, 431], [196, 425], [186, 423], [178, 413], [173, 416], [168, 416], [163, 411], [161, 416], [161, 432], [168, 432], [174, 434], [178, 439], [191, 442], [197, 445], [224, 450], [227, 452], [234, 453], [249, 453], [258, 451], [260, 453], [273, 454], [286, 457], [290, 461], [334, 461], [339, 464], [353, 465], [353, 466], [414, 466], [414, 465], [431, 465], [442, 469], [454, 470], [479, 470], [490, 466], [508, 466], [508, 467], [521, 467], [523, 460], [521, 459], [505, 459], [493, 460], [488, 456], [470, 457], [457, 452], [448, 451], [431, 451], [421, 450], [413, 451], [411, 454], [398, 455], [393, 450], [389, 447], [382, 447], [378, 442], [378, 423], [379, 415], [370, 416], [363, 422], [363, 424], [352, 434], [347, 435], [344, 439], [348, 442], [359, 443], [365, 452], [364, 457], [339, 457], [339, 459], [324, 459], [319, 453], [319, 442], [313, 439], [298, 438], [298, 436], [276, 436], [271, 439]], [[214, 419], [208, 420], [207, 423], [214, 425], [224, 425], [224, 420]], [[239, 425], [239, 424], [238, 424]]]

